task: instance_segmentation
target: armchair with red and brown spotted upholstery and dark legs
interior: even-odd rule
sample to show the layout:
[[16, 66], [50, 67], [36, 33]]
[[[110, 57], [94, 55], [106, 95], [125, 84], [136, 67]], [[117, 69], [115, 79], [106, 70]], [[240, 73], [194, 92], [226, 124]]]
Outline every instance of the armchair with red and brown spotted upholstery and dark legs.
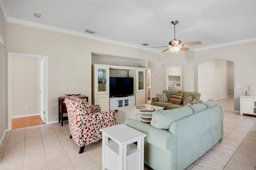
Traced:
[[66, 97], [70, 138], [84, 152], [85, 145], [102, 138], [101, 128], [116, 125], [115, 111], [100, 111], [100, 105], [88, 105], [84, 99], [76, 96]]

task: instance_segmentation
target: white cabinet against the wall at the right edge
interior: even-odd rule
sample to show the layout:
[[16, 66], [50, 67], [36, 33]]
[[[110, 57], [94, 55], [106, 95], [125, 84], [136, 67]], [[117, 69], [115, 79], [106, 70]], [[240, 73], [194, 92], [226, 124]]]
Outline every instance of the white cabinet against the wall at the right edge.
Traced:
[[256, 97], [240, 96], [240, 115], [256, 115]]

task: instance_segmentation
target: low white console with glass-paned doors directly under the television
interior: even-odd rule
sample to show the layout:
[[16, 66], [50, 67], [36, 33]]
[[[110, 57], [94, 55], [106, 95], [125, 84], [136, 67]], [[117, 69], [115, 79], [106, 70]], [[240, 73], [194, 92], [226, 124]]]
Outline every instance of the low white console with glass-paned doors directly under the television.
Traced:
[[111, 97], [109, 98], [110, 110], [118, 110], [122, 107], [134, 106], [135, 96], [129, 97]]

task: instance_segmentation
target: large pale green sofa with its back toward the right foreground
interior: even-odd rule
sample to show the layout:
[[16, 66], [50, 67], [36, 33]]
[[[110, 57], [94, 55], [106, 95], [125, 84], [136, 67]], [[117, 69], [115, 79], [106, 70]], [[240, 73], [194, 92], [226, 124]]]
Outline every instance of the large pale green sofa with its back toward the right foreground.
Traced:
[[144, 138], [144, 163], [154, 170], [183, 170], [223, 137], [222, 107], [215, 100], [155, 111], [150, 124], [127, 119]]

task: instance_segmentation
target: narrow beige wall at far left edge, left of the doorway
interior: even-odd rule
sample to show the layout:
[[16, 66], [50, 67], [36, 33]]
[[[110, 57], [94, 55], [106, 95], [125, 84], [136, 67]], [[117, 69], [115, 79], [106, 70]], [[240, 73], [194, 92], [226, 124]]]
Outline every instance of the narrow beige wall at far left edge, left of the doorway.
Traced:
[[0, 35], [4, 44], [0, 43], [0, 144], [8, 128], [7, 119], [7, 55], [6, 55], [6, 21], [0, 8]]

